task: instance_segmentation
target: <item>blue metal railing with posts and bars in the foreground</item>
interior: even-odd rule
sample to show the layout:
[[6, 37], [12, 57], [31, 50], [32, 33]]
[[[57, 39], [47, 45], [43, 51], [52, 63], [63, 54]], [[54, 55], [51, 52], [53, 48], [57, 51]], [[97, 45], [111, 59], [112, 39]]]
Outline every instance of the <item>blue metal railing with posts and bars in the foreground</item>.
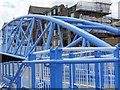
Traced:
[[[114, 52], [111, 57], [102, 56], [103, 48], [101, 50], [92, 48], [95, 50], [93, 57], [79, 57], [79, 55], [76, 57], [74, 51], [77, 49], [72, 49], [51, 48], [30, 54], [28, 60], [22, 62], [0, 63], [0, 80], [2, 83], [4, 81], [2, 85], [8, 88], [120, 89], [118, 47], [110, 49]], [[67, 58], [62, 57], [62, 53], [65, 51], [70, 51]], [[44, 53], [48, 53], [48, 58], [44, 58], [43, 55], [41, 60], [37, 60], [36, 54], [40, 56]]]

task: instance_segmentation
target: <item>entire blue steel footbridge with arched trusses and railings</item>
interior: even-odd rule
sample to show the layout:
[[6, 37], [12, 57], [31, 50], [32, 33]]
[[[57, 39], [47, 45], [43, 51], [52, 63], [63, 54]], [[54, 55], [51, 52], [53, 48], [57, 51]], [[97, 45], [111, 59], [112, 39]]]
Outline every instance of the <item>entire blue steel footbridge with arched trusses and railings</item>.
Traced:
[[[62, 29], [75, 34], [66, 46]], [[120, 36], [119, 29], [64, 16], [27, 15], [6, 24], [0, 54], [10, 58], [0, 63], [1, 88], [120, 90], [120, 44], [111, 46], [90, 34], [89, 29]], [[56, 47], [51, 45], [54, 30], [60, 40]]]

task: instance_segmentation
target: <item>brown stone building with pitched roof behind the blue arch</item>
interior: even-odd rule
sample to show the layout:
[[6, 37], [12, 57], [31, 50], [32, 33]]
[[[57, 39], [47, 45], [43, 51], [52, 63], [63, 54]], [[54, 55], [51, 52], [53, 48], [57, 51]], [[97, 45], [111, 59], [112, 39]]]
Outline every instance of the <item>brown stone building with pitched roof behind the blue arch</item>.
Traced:
[[[45, 9], [44, 9], [45, 8]], [[67, 7], [64, 6], [63, 4], [57, 6], [53, 6], [51, 8], [46, 8], [46, 7], [36, 7], [36, 6], [30, 6], [29, 7], [29, 11], [28, 11], [28, 14], [39, 14], [39, 15], [46, 15], [46, 16], [51, 16], [51, 15], [55, 15], [55, 16], [68, 16], [68, 12], [67, 12]], [[43, 28], [46, 26], [46, 22], [45, 21], [42, 21], [43, 23]], [[36, 21], [36, 24], [34, 25], [34, 32], [33, 32], [33, 38], [35, 38], [36, 35], [36, 30], [37, 30], [38, 25], [37, 25], [37, 21]], [[70, 40], [70, 37], [68, 39], [68, 31], [65, 32], [64, 29], [61, 30], [62, 32], [62, 35], [63, 35], [63, 42], [64, 42], [64, 45], [67, 45], [68, 43], [68, 40]], [[49, 31], [48, 31], [49, 32]], [[48, 35], [48, 32], [46, 32], [46, 34]], [[47, 39], [47, 35], [45, 34], [45, 39]], [[60, 41], [58, 40], [58, 33], [56, 30], [54, 30], [54, 37], [52, 38], [53, 42], [52, 42], [52, 45], [53, 46], [56, 46], [56, 45], [60, 45]], [[42, 45], [42, 41], [39, 45]]]

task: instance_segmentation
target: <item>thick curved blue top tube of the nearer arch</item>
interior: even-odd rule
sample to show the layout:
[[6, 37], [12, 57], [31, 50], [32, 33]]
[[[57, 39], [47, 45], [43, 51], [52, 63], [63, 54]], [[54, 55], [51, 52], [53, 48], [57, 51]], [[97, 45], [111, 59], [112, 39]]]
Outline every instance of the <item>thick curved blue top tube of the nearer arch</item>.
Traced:
[[[78, 34], [79, 36], [82, 36], [83, 38], [92, 42], [95, 46], [111, 47], [111, 45], [109, 45], [106, 42], [100, 40], [99, 38], [96, 38], [95, 36], [85, 32], [84, 30], [79, 29], [79, 28], [77, 28], [77, 27], [75, 27], [75, 26], [73, 26], [69, 23], [66, 23], [66, 22], [62, 21], [62, 20], [58, 20], [58, 19], [52, 18], [50, 16], [43, 16], [43, 15], [27, 15], [27, 16], [23, 16], [23, 17], [26, 17], [26, 18], [35, 17], [36, 19], [43, 19], [43, 20], [47, 20], [47, 21], [50, 21], [50, 22], [54, 22], [55, 24], [59, 24], [60, 26], [65, 27], [66, 29]], [[20, 18], [22, 18], [22, 17], [20, 17]], [[19, 18], [17, 18], [17, 19], [19, 19]], [[117, 31], [117, 33], [118, 33], [118, 30], [112, 29], [112, 31], [113, 30]]]

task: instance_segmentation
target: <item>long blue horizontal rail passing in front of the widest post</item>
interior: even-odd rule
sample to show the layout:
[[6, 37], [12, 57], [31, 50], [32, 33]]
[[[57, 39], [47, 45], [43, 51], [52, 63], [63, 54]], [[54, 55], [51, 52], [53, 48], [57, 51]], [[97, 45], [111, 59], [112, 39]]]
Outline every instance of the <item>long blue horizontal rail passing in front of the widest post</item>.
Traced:
[[69, 59], [69, 60], [33, 60], [33, 61], [22, 61], [22, 63], [29, 64], [39, 64], [39, 63], [51, 63], [51, 64], [79, 64], [79, 63], [109, 63], [109, 62], [119, 62], [117, 58], [92, 58], [91, 59]]

